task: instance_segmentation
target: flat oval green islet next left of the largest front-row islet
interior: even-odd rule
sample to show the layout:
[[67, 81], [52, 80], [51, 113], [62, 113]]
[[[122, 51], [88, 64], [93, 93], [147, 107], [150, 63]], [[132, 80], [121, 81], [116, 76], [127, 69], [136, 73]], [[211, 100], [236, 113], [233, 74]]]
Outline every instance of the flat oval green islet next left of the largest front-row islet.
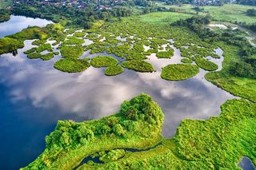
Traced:
[[131, 60], [131, 61], [124, 61], [122, 63], [122, 67], [126, 69], [133, 69], [138, 72], [153, 72], [154, 67], [149, 62], [146, 61], [139, 61], [139, 60]]

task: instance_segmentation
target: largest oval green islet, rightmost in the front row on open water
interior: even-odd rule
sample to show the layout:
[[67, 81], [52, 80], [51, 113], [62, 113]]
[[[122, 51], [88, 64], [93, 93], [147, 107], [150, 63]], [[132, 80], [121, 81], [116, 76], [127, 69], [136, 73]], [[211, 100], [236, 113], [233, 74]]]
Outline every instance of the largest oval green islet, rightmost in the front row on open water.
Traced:
[[162, 68], [161, 77], [167, 81], [180, 81], [194, 77], [199, 73], [197, 65], [177, 64], [167, 65]]

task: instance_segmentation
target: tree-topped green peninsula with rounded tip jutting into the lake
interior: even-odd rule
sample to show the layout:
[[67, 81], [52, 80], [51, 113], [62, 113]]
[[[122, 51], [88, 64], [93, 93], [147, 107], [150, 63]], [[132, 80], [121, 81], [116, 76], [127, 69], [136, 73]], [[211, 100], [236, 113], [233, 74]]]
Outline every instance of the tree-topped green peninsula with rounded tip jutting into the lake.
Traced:
[[[72, 169], [95, 152], [154, 146], [162, 140], [162, 123], [161, 109], [145, 94], [125, 101], [117, 114], [101, 120], [58, 121], [54, 132], [46, 136], [45, 151], [25, 169]], [[115, 151], [102, 159], [118, 157]]]

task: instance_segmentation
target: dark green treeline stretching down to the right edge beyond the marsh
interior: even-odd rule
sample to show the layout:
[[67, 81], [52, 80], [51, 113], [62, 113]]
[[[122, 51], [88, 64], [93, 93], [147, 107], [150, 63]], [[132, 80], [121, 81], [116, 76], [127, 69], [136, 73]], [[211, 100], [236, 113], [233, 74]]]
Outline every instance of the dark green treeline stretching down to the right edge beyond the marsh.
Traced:
[[[214, 32], [206, 28], [206, 25], [210, 21], [210, 15], [194, 16], [185, 20], [179, 20], [171, 25], [186, 26], [206, 42], [214, 43], [222, 41], [230, 45], [239, 46], [241, 60], [232, 63], [228, 72], [236, 77], [256, 78], [256, 48], [250, 45], [250, 42], [242, 36], [243, 32], [241, 30], [232, 30], [229, 28]], [[253, 26], [256, 27], [256, 24]]]

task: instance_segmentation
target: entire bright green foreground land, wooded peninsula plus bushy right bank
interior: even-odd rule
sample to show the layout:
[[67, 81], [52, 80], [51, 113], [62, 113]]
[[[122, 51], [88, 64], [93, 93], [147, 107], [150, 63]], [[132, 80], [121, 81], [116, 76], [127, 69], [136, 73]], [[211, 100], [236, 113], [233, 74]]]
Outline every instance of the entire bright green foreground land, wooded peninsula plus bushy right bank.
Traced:
[[[78, 169], [238, 169], [242, 156], [256, 163], [256, 105], [230, 100], [218, 117], [206, 121], [183, 120], [176, 135], [155, 148], [129, 152], [117, 148], [149, 148], [161, 141], [163, 115], [145, 94], [122, 104], [120, 111], [97, 121], [58, 121], [46, 149], [24, 169], [72, 169], [87, 156], [103, 164]], [[110, 152], [105, 152], [110, 151]]]

